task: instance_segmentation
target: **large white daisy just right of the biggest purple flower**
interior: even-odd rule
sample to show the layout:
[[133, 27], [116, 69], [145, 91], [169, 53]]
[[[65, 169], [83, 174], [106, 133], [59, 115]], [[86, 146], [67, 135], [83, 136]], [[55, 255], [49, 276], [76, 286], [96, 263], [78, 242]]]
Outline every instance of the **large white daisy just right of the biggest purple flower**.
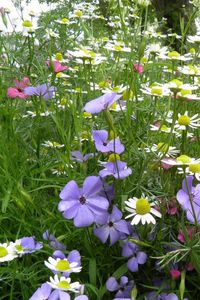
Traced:
[[158, 218], [161, 218], [161, 213], [154, 209], [152, 206], [155, 206], [156, 203], [149, 203], [146, 197], [143, 198], [130, 198], [128, 201], [125, 201], [127, 205], [125, 209], [131, 214], [126, 216], [125, 219], [132, 218], [131, 225], [137, 225], [140, 222], [144, 224], [156, 224], [156, 220], [152, 215], [155, 215]]

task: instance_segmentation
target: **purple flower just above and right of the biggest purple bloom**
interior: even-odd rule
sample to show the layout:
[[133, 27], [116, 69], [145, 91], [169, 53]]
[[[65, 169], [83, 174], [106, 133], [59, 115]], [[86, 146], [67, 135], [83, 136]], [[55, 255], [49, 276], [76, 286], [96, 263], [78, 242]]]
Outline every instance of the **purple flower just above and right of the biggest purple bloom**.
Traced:
[[105, 169], [99, 172], [100, 177], [114, 176], [115, 179], [124, 179], [132, 174], [132, 170], [127, 167], [127, 164], [121, 160], [115, 162], [107, 162], [104, 164]]

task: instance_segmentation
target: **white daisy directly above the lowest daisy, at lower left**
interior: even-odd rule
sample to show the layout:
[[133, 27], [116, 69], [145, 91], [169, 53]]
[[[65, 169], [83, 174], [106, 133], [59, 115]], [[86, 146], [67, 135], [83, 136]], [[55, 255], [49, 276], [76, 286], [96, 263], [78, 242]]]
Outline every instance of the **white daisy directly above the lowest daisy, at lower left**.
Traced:
[[45, 261], [44, 264], [47, 268], [56, 272], [79, 273], [82, 269], [82, 267], [78, 266], [77, 262], [70, 263], [67, 258], [49, 257], [48, 261]]

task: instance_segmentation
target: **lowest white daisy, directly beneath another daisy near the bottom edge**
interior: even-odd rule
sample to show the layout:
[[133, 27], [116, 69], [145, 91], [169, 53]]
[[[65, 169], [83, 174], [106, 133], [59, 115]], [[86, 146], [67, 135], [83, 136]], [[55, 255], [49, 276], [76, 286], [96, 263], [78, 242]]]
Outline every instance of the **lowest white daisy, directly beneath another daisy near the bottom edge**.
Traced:
[[71, 283], [71, 278], [66, 278], [61, 276], [60, 278], [58, 275], [55, 275], [54, 278], [50, 277], [50, 281], [47, 282], [53, 289], [59, 289], [62, 291], [71, 291], [74, 293], [78, 293], [81, 288], [81, 284], [76, 281]]

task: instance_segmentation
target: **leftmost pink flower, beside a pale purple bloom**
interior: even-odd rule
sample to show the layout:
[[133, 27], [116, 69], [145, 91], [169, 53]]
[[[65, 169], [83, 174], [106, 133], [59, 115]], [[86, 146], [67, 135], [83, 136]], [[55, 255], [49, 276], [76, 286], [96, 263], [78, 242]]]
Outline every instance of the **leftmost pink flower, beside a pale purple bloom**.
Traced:
[[7, 96], [10, 98], [26, 99], [28, 96], [24, 93], [24, 89], [30, 84], [28, 77], [24, 77], [22, 81], [14, 80], [15, 87], [9, 87]]

